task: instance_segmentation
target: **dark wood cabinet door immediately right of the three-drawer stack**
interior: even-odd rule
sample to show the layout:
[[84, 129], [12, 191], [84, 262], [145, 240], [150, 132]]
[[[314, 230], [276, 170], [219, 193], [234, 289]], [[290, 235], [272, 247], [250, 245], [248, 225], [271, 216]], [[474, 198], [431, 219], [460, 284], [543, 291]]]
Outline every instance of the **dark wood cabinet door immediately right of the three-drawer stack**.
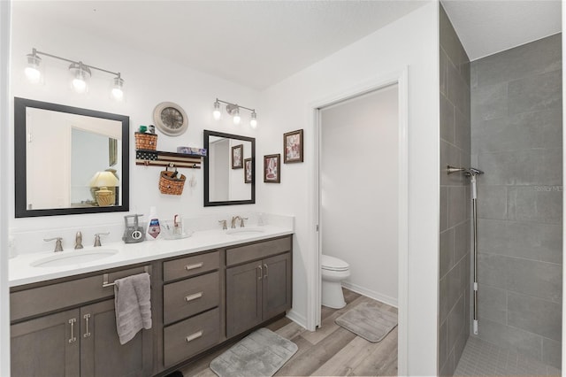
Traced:
[[262, 321], [262, 261], [226, 268], [226, 336]]

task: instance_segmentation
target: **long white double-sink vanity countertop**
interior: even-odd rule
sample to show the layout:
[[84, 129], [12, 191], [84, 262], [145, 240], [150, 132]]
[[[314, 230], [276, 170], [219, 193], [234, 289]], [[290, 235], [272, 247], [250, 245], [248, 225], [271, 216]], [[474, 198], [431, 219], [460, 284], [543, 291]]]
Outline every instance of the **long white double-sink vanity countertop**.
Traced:
[[[236, 228], [237, 229], [240, 228]], [[247, 228], [242, 228], [247, 229]], [[280, 235], [292, 235], [293, 227], [281, 227], [265, 225], [254, 227], [260, 232], [227, 234], [226, 230], [198, 230], [190, 237], [180, 240], [159, 239], [156, 241], [144, 241], [140, 243], [109, 242], [104, 243], [100, 250], [118, 250], [115, 255], [101, 258], [88, 263], [63, 266], [33, 266], [34, 262], [53, 255], [72, 254], [73, 249], [59, 253], [41, 252], [34, 254], [22, 254], [10, 259], [10, 287], [34, 283], [38, 281], [49, 281], [51, 279], [63, 278], [91, 273], [100, 270], [151, 262], [162, 258], [183, 256], [204, 250], [213, 250], [232, 246], [238, 243], [261, 241]], [[228, 229], [228, 232], [231, 229]], [[251, 230], [251, 229], [250, 229]], [[96, 250], [97, 248], [86, 247], [82, 250]]]

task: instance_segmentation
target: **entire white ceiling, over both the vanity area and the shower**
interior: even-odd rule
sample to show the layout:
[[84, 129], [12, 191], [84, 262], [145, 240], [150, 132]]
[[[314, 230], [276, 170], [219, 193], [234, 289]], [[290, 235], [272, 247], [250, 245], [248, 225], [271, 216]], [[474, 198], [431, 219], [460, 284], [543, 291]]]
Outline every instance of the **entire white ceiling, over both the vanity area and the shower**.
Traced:
[[[62, 24], [264, 89], [427, 4], [423, 0], [13, 2]], [[471, 60], [561, 30], [560, 0], [443, 0]], [[41, 50], [41, 49], [40, 49]]]

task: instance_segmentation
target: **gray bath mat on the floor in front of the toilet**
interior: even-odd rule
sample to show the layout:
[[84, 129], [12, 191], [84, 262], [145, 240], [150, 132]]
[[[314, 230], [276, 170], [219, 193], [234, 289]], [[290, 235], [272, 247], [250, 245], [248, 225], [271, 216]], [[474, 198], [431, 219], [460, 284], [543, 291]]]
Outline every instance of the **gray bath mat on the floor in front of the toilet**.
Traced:
[[335, 320], [370, 342], [380, 342], [397, 326], [397, 314], [381, 309], [377, 303], [362, 303]]

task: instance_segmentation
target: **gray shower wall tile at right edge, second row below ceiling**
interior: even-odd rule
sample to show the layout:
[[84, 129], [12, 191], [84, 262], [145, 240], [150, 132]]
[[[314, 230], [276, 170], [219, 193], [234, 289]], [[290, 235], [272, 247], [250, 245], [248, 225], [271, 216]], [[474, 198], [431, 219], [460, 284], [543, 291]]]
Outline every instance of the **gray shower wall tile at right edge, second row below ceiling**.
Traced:
[[509, 115], [560, 108], [561, 106], [561, 70], [540, 73], [509, 82]]

